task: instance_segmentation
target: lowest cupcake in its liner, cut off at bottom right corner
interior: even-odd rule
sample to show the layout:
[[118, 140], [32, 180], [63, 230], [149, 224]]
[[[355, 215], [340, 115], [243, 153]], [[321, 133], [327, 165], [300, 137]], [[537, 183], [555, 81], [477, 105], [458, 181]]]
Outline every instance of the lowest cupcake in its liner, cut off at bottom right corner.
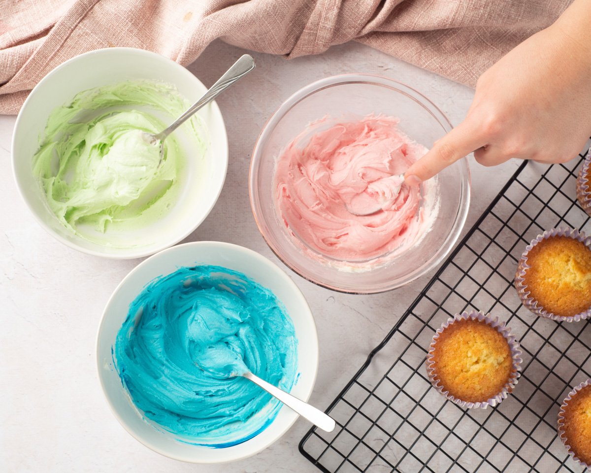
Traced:
[[558, 436], [573, 458], [591, 466], [591, 380], [570, 391], [558, 412]]

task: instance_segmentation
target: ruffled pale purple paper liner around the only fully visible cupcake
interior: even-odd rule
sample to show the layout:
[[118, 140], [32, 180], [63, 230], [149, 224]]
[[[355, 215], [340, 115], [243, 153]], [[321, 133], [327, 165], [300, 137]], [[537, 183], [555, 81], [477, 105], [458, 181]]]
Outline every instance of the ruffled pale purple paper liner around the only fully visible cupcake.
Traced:
[[[449, 394], [449, 391], [445, 390], [445, 387], [441, 384], [439, 380], [435, 379], [436, 369], [434, 351], [435, 343], [437, 342], [439, 335], [446, 328], [448, 328], [450, 325], [457, 322], [458, 320], [468, 319], [486, 322], [488, 325], [495, 328], [499, 333], [501, 333], [501, 335], [505, 337], [506, 341], [509, 344], [509, 348], [511, 349], [511, 358], [513, 359], [511, 377], [509, 377], [509, 380], [506, 382], [501, 392], [496, 396], [491, 397], [491, 399], [488, 399], [486, 401], [479, 401], [477, 403], [457, 399], [457, 397], [452, 396], [451, 394]], [[495, 317], [493, 319], [491, 318], [490, 314], [485, 314], [484, 312], [482, 312], [482, 310], [480, 312], [472, 310], [471, 312], [464, 312], [462, 313], [462, 315], [456, 314], [453, 316], [453, 318], [448, 319], [447, 322], [441, 325], [441, 328], [435, 333], [435, 335], [433, 336], [433, 340], [431, 341], [431, 345], [429, 346], [426, 365], [429, 381], [431, 381], [431, 384], [434, 388], [436, 388], [436, 390], [441, 394], [441, 396], [446, 397], [446, 399], [449, 399], [450, 401], [456, 403], [460, 407], [467, 407], [469, 409], [486, 409], [486, 407], [488, 406], [495, 407], [496, 404], [500, 403], [509, 395], [509, 393], [513, 391], [513, 388], [517, 384], [520, 375], [519, 371], [521, 371], [521, 361], [521, 348], [519, 347], [519, 342], [517, 341], [517, 339], [515, 339], [515, 335], [511, 333], [511, 329], [506, 327], [504, 322], [499, 321], [498, 317]]]

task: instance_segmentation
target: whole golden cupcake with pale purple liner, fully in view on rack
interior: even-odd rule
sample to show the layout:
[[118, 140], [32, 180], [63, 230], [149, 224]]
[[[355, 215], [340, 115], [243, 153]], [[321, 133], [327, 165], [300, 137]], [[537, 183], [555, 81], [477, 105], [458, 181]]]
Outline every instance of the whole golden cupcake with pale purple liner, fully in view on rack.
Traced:
[[517, 384], [521, 349], [504, 323], [483, 312], [447, 320], [427, 354], [431, 384], [462, 407], [495, 406]]

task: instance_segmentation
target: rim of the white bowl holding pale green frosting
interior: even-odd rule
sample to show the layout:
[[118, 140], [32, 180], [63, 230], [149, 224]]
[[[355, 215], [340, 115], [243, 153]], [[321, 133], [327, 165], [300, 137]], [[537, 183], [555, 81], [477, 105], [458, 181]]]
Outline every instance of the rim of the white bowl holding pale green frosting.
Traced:
[[[70, 59], [57, 65], [56, 67], [54, 67], [54, 69], [52, 69], [50, 72], [48, 72], [37, 83], [37, 85], [34, 86], [33, 89], [31, 89], [31, 92], [29, 93], [29, 95], [27, 96], [25, 101], [22, 103], [21, 109], [17, 114], [17, 119], [14, 124], [14, 129], [12, 131], [12, 138], [11, 138], [12, 177], [14, 179], [14, 182], [16, 183], [18, 194], [21, 196], [22, 201], [27, 206], [27, 209], [29, 210], [31, 215], [33, 215], [35, 221], [37, 221], [37, 223], [39, 225], [41, 225], [41, 228], [43, 228], [49, 235], [51, 235], [51, 237], [53, 237], [54, 239], [56, 239], [60, 243], [66, 245], [67, 247], [72, 248], [73, 250], [76, 250], [76, 251], [80, 251], [85, 254], [89, 254], [92, 256], [98, 256], [98, 257], [102, 257], [102, 258], [109, 258], [112, 260], [130, 260], [133, 258], [144, 258], [149, 255], [155, 254], [158, 251], [162, 251], [165, 248], [170, 248], [173, 245], [176, 245], [178, 242], [182, 241], [183, 239], [187, 238], [191, 233], [193, 233], [197, 229], [197, 227], [199, 227], [199, 225], [201, 225], [203, 223], [203, 221], [207, 218], [209, 213], [212, 211], [213, 207], [216, 205], [217, 199], [219, 199], [220, 193], [222, 192], [224, 183], [226, 181], [226, 177], [228, 175], [228, 161], [229, 161], [228, 132], [226, 131], [226, 124], [223, 119], [222, 112], [219, 109], [219, 106], [217, 106], [217, 103], [215, 101], [212, 101], [212, 102], [210, 102], [210, 105], [212, 107], [212, 112], [220, 120], [220, 124], [221, 124], [220, 129], [219, 129], [219, 134], [222, 139], [219, 140], [219, 145], [223, 148], [223, 153], [220, 153], [220, 155], [216, 154], [216, 160], [222, 160], [223, 179], [222, 179], [222, 182], [220, 183], [219, 189], [217, 189], [215, 199], [212, 200], [212, 203], [210, 204], [209, 208], [207, 208], [207, 211], [203, 213], [203, 217], [200, 220], [195, 221], [194, 226], [189, 227], [187, 229], [187, 231], [184, 231], [182, 234], [178, 234], [178, 237], [174, 237], [173, 239], [168, 240], [167, 242], [165, 242], [163, 244], [154, 246], [151, 249], [150, 248], [146, 249], [146, 247], [137, 248], [137, 249], [136, 248], [125, 248], [124, 249], [125, 251], [119, 251], [117, 253], [109, 252], [109, 251], [97, 251], [97, 250], [92, 250], [91, 248], [84, 248], [80, 245], [77, 245], [74, 241], [64, 238], [62, 235], [58, 234], [57, 232], [54, 232], [53, 229], [49, 225], [47, 225], [47, 223], [44, 222], [43, 219], [41, 219], [41, 217], [39, 215], [37, 215], [37, 212], [35, 212], [33, 210], [33, 208], [31, 208], [30, 203], [25, 198], [25, 193], [24, 193], [24, 190], [22, 189], [22, 184], [20, 182], [20, 179], [18, 179], [16, 161], [17, 161], [17, 155], [20, 153], [15, 151], [16, 150], [15, 141], [16, 141], [17, 134], [20, 131], [20, 124], [22, 121], [22, 111], [25, 110], [25, 108], [27, 108], [28, 103], [31, 101], [31, 98], [33, 98], [37, 94], [41, 93], [40, 89], [41, 90], [43, 89], [44, 83], [46, 83], [47, 80], [50, 79], [59, 70], [64, 69], [64, 67], [69, 67], [70, 64], [75, 63], [76, 61], [78, 61], [82, 57], [102, 55], [102, 54], [107, 54], [107, 55], [121, 54], [121, 53], [137, 54], [138, 56], [145, 56], [145, 57], [150, 57], [154, 60], [163, 61], [164, 63], [167, 63], [168, 66], [170, 66], [172, 69], [176, 69], [178, 71], [179, 75], [187, 76], [190, 79], [192, 79], [194, 82], [199, 84], [200, 86], [203, 86], [203, 88], [207, 89], [206, 86], [203, 84], [203, 82], [201, 82], [201, 80], [199, 80], [199, 78], [197, 76], [195, 76], [193, 73], [191, 73], [189, 71], [189, 69], [181, 66], [181, 64], [176, 63], [172, 59], [170, 59], [166, 56], [163, 56], [162, 54], [154, 53], [153, 51], [148, 51], [148, 50], [144, 50], [144, 49], [132, 48], [132, 47], [107, 47], [107, 48], [95, 49], [92, 51], [87, 51], [86, 53], [78, 54], [77, 56], [71, 57]], [[78, 92], [82, 92], [82, 91], [79, 90]], [[97, 245], [102, 246], [102, 248], [105, 248], [105, 250], [109, 250], [109, 247], [107, 245], [99, 245], [99, 244], [97, 244]], [[122, 250], [122, 249], [119, 248], [119, 250]]]

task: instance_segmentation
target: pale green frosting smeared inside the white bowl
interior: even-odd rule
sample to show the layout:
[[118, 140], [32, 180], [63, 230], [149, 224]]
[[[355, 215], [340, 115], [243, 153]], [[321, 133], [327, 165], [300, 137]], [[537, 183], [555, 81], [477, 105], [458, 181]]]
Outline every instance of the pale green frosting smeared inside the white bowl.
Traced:
[[[51, 112], [33, 172], [60, 222], [80, 237], [104, 242], [101, 234], [142, 228], [164, 216], [181, 190], [178, 132], [164, 141], [159, 166], [158, 145], [142, 131], [162, 131], [188, 107], [173, 86], [141, 80], [85, 90]], [[203, 154], [199, 117], [182, 127]]]

